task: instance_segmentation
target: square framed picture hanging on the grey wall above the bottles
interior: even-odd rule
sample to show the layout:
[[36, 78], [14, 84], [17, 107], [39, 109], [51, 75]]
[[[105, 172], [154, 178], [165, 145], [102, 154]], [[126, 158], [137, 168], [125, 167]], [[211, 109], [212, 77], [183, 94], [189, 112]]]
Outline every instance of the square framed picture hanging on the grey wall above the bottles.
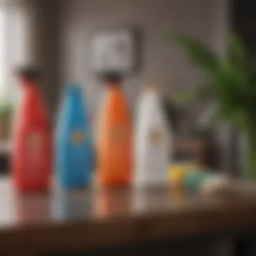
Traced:
[[131, 29], [94, 34], [92, 65], [96, 73], [133, 73], [137, 69], [137, 34]]

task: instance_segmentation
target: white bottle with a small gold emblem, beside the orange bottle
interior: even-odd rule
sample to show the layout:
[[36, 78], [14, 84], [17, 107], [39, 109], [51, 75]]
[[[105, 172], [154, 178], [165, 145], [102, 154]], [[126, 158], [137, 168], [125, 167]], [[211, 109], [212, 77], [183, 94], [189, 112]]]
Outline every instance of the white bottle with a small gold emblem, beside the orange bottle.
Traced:
[[153, 85], [146, 86], [139, 99], [135, 124], [136, 186], [165, 185], [170, 164], [170, 128], [160, 97]]

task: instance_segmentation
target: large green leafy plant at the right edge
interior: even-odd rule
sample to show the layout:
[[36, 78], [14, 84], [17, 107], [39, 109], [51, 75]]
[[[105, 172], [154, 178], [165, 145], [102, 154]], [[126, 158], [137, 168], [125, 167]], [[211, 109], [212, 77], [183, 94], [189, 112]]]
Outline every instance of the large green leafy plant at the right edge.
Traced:
[[256, 65], [251, 63], [238, 35], [229, 38], [228, 51], [218, 55], [209, 46], [181, 34], [170, 35], [172, 44], [203, 71], [204, 83], [185, 91], [186, 100], [206, 99], [208, 121], [224, 119], [247, 137], [246, 176], [256, 179]]

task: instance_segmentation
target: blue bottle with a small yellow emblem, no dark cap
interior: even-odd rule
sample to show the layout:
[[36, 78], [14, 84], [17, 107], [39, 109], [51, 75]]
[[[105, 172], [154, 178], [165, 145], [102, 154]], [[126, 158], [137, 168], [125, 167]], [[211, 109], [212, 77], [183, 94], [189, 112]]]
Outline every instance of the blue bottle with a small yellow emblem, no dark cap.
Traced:
[[94, 148], [82, 90], [67, 86], [55, 135], [55, 168], [61, 187], [89, 185], [94, 170]]

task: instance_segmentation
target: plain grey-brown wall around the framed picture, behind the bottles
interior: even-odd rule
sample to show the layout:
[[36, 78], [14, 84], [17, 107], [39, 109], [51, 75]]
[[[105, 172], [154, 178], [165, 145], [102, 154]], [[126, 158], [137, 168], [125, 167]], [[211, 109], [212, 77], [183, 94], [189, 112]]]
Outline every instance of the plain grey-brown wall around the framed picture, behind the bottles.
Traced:
[[143, 69], [125, 80], [129, 104], [145, 82], [155, 82], [162, 94], [195, 86], [199, 74], [164, 39], [170, 30], [201, 38], [222, 51], [228, 29], [228, 0], [62, 0], [61, 73], [63, 84], [81, 82], [92, 113], [98, 106], [101, 87], [90, 70], [91, 36], [111, 26], [143, 30]]

